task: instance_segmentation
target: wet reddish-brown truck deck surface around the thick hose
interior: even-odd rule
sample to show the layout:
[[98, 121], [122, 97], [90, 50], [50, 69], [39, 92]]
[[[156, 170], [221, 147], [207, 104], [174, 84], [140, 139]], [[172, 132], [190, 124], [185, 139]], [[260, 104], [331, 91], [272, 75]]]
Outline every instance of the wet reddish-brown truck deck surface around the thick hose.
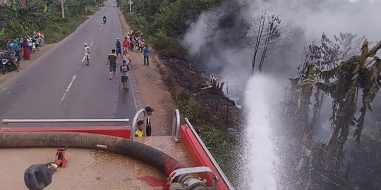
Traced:
[[[137, 139], [172, 156], [186, 167], [193, 166], [183, 144], [172, 137]], [[24, 172], [30, 165], [54, 161], [56, 148], [0, 148], [0, 189], [27, 189]], [[49, 189], [162, 189], [166, 176], [146, 163], [106, 151], [68, 148], [68, 165], [53, 175]]]

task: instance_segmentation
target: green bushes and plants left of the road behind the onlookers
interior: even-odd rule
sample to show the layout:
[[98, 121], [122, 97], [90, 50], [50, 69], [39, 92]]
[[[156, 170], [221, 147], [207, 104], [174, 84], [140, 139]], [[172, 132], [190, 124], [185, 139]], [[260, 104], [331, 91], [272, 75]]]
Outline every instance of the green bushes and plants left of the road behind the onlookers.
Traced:
[[[8, 1], [0, 7], [0, 44], [4, 46], [7, 39], [20, 38], [33, 31], [42, 31], [45, 43], [59, 42], [94, 14], [103, 0], [66, 0], [64, 1], [65, 18], [62, 18], [59, 1]], [[1, 29], [2, 27], [2, 29]]]

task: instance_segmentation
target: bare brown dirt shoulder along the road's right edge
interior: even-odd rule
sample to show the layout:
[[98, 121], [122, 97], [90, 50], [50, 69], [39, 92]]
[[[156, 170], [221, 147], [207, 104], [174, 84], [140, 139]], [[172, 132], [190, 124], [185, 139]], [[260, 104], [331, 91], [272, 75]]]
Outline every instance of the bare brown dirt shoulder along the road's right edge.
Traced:
[[[123, 33], [127, 36], [127, 32], [131, 28], [128, 26], [123, 13], [120, 10], [118, 11]], [[168, 87], [159, 74], [157, 65], [162, 64], [159, 63], [159, 59], [150, 57], [150, 66], [145, 67], [143, 66], [143, 53], [130, 52], [130, 56], [132, 58], [132, 71], [138, 87], [137, 96], [140, 96], [142, 102], [141, 106], [142, 108], [151, 106], [155, 109], [151, 116], [152, 136], [171, 134], [172, 115], [176, 107]]]

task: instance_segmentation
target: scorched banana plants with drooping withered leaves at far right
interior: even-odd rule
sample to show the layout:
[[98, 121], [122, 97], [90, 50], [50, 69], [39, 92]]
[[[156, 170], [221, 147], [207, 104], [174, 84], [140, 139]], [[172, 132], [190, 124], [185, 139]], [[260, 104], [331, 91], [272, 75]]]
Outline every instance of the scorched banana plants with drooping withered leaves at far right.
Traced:
[[[365, 114], [368, 110], [372, 111], [371, 103], [375, 99], [381, 87], [381, 59], [376, 55], [381, 49], [381, 42], [368, 48], [368, 40], [365, 39], [361, 46], [361, 54], [352, 56], [348, 61], [342, 61], [332, 67], [320, 67], [321, 64], [308, 61], [303, 66], [301, 77], [296, 78], [292, 85], [298, 91], [298, 113], [299, 120], [305, 127], [306, 137], [313, 141], [311, 130], [315, 124], [316, 115], [320, 107], [320, 93], [324, 92], [331, 96], [332, 114], [329, 121], [332, 125], [332, 134], [325, 148], [323, 161], [329, 164], [331, 160], [337, 161], [336, 167], [339, 169], [344, 158], [344, 144], [349, 137], [352, 127], [356, 127], [353, 137], [356, 141], [361, 141]], [[313, 89], [315, 94], [313, 95]], [[362, 91], [362, 97], [358, 94]], [[309, 122], [308, 113], [311, 104], [311, 96], [315, 96], [313, 105], [313, 119]], [[361, 113], [356, 118], [358, 99], [361, 99]], [[301, 115], [304, 115], [301, 118]]]

